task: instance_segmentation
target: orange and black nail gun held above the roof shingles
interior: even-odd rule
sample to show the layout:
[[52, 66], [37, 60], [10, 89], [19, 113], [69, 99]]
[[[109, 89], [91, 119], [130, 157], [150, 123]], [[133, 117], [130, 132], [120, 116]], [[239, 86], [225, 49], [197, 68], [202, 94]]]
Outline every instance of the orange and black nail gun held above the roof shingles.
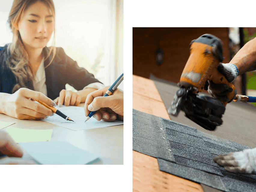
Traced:
[[[183, 69], [178, 86], [168, 113], [177, 116], [179, 111], [205, 129], [215, 130], [222, 124], [222, 114], [228, 102], [222, 102], [207, 95], [197, 94], [203, 90], [206, 81], [215, 84], [227, 84], [232, 88], [228, 93], [230, 101], [236, 96], [235, 86], [217, 70], [223, 61], [222, 41], [211, 34], [204, 34], [191, 41], [190, 56]], [[229, 101], [229, 102], [230, 102]]]

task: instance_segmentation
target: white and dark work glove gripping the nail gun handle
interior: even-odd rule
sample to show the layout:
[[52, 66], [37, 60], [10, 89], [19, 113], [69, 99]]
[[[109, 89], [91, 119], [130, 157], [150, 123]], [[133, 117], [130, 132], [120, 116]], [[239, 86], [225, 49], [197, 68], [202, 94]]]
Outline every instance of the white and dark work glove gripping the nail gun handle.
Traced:
[[[220, 63], [217, 66], [218, 71], [225, 76], [227, 81], [232, 82], [238, 75], [238, 69], [234, 64], [223, 64]], [[232, 92], [233, 89], [229, 87], [227, 84], [215, 84], [212, 81], [206, 81], [206, 84], [204, 86], [205, 90], [208, 90], [208, 93], [211, 94], [212, 97], [215, 99], [229, 102], [229, 98], [227, 97], [227, 94]]]

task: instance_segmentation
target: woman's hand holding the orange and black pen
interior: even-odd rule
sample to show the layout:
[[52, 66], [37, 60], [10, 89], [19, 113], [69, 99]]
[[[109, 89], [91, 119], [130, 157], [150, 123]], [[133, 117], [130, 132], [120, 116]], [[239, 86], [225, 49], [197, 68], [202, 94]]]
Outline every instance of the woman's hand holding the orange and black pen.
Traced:
[[51, 116], [53, 112], [31, 99], [38, 99], [47, 105], [56, 104], [41, 92], [27, 88], [20, 88], [15, 93], [5, 97], [3, 113], [17, 119], [42, 120]]

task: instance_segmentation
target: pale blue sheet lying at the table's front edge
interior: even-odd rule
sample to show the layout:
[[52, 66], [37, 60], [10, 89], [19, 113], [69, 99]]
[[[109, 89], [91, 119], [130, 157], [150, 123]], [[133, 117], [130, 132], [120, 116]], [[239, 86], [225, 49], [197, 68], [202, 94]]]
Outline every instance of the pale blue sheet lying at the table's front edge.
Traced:
[[[33, 160], [44, 165], [84, 165], [100, 155], [79, 149], [64, 141], [19, 143]], [[99, 159], [98, 159], [99, 160]]]

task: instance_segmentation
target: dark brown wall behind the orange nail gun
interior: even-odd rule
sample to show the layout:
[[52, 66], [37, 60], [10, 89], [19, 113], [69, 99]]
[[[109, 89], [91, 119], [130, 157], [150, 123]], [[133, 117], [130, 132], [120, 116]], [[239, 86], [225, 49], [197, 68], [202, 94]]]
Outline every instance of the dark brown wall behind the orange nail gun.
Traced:
[[[133, 28], [133, 74], [179, 82], [189, 58], [189, 44], [203, 34], [213, 34], [223, 43], [223, 63], [230, 61], [228, 28]], [[164, 51], [163, 63], [156, 63], [155, 51]]]

